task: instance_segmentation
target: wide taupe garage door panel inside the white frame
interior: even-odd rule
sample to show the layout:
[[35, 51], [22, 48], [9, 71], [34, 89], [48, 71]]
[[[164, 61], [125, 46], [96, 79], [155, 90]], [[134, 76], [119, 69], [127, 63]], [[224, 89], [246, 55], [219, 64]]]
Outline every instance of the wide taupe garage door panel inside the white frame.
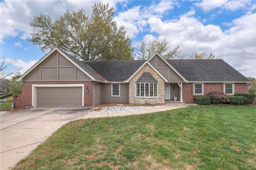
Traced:
[[82, 87], [37, 87], [36, 107], [82, 107]]

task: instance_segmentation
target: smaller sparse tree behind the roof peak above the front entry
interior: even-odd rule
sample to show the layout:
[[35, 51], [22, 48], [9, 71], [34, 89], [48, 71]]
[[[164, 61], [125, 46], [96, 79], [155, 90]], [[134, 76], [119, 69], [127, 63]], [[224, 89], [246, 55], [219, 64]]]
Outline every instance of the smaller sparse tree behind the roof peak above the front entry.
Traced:
[[180, 55], [181, 48], [177, 45], [171, 49], [169, 42], [164, 39], [154, 39], [149, 42], [141, 41], [136, 44], [134, 53], [137, 59], [149, 59], [155, 52], [160, 53], [165, 59], [182, 59], [184, 56]]

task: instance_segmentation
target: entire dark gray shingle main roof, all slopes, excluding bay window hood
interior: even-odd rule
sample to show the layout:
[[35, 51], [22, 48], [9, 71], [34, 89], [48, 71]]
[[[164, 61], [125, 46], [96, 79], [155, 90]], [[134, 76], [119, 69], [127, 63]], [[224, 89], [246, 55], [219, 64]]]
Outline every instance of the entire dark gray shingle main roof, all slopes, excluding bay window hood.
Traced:
[[[97, 80], [125, 81], [146, 60], [104, 60], [80, 61], [65, 53], [72, 61], [82, 67]], [[168, 59], [172, 65], [188, 81], [205, 82], [249, 82], [249, 80], [222, 59]], [[89, 67], [89, 66], [90, 67]], [[100, 78], [96, 73], [104, 79]]]

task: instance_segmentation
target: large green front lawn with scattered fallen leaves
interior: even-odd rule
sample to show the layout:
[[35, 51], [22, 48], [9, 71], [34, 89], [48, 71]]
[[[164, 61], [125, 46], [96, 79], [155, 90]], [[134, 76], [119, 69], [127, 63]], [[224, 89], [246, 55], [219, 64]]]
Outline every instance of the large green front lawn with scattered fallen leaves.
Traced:
[[73, 121], [14, 169], [256, 169], [256, 107]]

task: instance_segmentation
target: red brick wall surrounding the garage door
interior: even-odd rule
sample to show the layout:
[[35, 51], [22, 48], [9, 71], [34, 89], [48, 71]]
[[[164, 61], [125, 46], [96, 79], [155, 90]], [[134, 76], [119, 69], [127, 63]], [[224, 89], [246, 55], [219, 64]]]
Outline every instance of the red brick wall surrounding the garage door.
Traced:
[[[13, 98], [14, 108], [22, 109], [32, 107], [32, 85], [65, 85], [65, 84], [84, 84], [84, 106], [92, 106], [92, 82], [91, 81], [69, 81], [69, 82], [24, 82], [20, 97]], [[89, 91], [86, 92], [88, 87]]]

